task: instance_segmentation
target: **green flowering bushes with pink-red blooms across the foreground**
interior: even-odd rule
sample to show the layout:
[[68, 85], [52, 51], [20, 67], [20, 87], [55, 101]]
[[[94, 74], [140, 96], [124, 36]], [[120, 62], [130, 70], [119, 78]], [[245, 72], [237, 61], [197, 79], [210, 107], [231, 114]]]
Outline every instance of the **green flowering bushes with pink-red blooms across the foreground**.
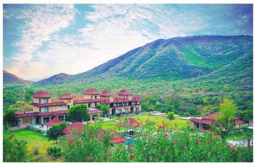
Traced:
[[[252, 162], [252, 147], [228, 144], [215, 131], [176, 131], [152, 122], [135, 126], [128, 143], [111, 145], [112, 132], [97, 138], [100, 125], [62, 141], [68, 162]], [[91, 137], [91, 135], [95, 135]], [[70, 141], [72, 141], [71, 144]]]

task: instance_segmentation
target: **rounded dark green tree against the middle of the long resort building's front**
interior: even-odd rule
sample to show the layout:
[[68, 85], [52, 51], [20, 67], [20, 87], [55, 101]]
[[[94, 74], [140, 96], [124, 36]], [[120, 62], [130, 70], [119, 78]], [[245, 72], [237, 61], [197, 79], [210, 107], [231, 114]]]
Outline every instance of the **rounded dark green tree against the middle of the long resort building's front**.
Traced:
[[87, 110], [87, 105], [78, 104], [76, 106], [72, 106], [68, 110], [69, 120], [72, 122], [82, 122], [88, 121], [90, 118], [89, 111]]

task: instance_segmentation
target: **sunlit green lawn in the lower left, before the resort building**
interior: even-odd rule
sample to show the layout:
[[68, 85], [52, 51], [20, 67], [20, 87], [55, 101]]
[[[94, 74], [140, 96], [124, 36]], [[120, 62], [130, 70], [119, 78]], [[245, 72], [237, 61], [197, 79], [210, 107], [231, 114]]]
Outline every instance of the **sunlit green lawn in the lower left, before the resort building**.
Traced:
[[40, 132], [24, 129], [24, 130], [16, 130], [11, 131], [11, 134], [14, 134], [14, 137], [18, 140], [26, 140], [28, 143], [28, 150], [33, 153], [33, 149], [36, 146], [39, 146], [40, 154], [47, 154], [47, 148], [51, 146], [51, 144], [55, 143], [55, 141], [50, 140]]

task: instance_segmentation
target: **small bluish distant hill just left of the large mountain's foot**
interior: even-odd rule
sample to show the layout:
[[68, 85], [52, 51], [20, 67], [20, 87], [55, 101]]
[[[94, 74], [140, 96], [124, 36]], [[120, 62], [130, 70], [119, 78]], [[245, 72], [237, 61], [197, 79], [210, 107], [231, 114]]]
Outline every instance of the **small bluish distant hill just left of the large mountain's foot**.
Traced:
[[72, 75], [60, 73], [44, 80], [37, 81], [37, 85], [56, 85], [72, 81]]

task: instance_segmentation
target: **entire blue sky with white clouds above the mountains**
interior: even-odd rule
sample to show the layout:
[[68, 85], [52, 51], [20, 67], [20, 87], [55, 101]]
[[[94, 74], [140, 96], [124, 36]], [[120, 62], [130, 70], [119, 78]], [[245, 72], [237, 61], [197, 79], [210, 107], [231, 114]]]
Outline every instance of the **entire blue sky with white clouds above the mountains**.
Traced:
[[38, 80], [86, 72], [146, 43], [252, 35], [252, 5], [4, 4], [4, 69]]

